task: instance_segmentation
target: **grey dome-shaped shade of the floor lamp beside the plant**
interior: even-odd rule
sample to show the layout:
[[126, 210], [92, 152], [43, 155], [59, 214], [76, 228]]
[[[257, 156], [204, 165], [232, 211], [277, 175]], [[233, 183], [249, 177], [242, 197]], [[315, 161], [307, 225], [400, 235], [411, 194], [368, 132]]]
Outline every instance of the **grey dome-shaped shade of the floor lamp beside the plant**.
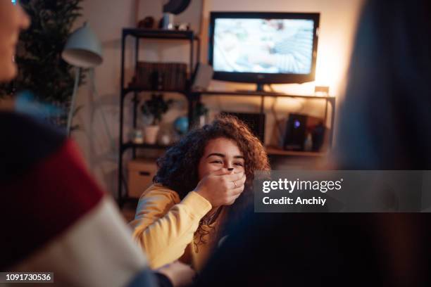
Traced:
[[102, 63], [101, 44], [87, 23], [70, 34], [61, 57], [79, 68], [93, 68]]

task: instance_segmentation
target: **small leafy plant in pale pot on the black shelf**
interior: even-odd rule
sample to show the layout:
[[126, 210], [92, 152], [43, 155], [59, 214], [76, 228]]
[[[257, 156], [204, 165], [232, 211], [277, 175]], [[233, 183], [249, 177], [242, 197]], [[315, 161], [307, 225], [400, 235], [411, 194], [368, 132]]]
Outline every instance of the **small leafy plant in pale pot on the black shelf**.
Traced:
[[144, 140], [146, 144], [156, 144], [158, 129], [163, 115], [168, 112], [173, 100], [165, 101], [163, 94], [152, 94], [149, 100], [142, 105], [144, 117], [149, 119], [149, 125], [144, 127]]

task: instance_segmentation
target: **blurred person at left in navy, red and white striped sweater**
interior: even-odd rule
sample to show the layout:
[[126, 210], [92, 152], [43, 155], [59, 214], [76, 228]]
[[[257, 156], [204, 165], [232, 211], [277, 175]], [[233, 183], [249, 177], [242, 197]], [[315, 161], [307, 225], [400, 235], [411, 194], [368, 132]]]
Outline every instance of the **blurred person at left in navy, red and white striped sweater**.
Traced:
[[[28, 25], [20, 6], [0, 0], [0, 82], [17, 75], [12, 59]], [[192, 269], [180, 263], [154, 276], [115, 203], [63, 133], [2, 101], [0, 138], [0, 272], [54, 272], [50, 286], [181, 286], [192, 280]]]

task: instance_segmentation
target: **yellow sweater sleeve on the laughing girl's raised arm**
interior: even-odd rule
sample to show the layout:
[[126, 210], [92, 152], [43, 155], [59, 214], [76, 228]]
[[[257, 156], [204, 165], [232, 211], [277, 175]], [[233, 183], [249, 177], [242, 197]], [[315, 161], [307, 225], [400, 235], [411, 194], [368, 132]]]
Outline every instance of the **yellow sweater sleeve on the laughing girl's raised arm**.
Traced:
[[139, 199], [133, 238], [146, 253], [151, 268], [177, 260], [192, 242], [199, 221], [211, 203], [194, 191], [183, 200], [159, 184], [150, 186]]

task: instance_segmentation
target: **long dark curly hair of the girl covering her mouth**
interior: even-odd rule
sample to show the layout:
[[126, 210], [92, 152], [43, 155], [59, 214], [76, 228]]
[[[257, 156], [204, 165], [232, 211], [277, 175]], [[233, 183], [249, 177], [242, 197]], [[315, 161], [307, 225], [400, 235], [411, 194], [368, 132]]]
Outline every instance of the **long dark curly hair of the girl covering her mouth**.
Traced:
[[176, 191], [180, 198], [199, 183], [199, 161], [208, 141], [225, 138], [235, 141], [244, 155], [246, 183], [244, 192], [250, 192], [255, 170], [270, 170], [268, 155], [249, 127], [232, 115], [218, 115], [210, 125], [193, 129], [175, 146], [157, 160], [158, 172], [154, 182]]

